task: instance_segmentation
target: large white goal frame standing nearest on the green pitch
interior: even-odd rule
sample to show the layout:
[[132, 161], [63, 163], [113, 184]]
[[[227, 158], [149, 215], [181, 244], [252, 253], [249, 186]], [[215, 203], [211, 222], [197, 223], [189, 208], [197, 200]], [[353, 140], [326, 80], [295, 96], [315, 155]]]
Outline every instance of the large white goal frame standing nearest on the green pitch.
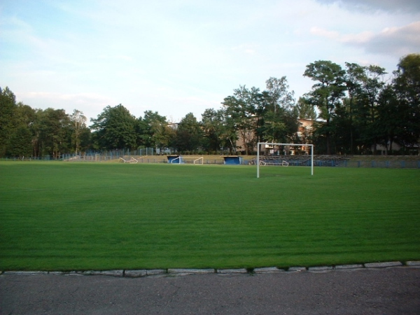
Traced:
[[[261, 146], [264, 146], [263, 148], [261, 148]], [[258, 142], [258, 146], [257, 146], [257, 160], [256, 160], [256, 165], [257, 165], [257, 179], [260, 178], [260, 167], [261, 166], [265, 166], [265, 165], [281, 165], [281, 166], [288, 166], [289, 162], [285, 161], [285, 160], [281, 160], [281, 155], [277, 155], [276, 158], [271, 158], [268, 159], [266, 156], [261, 157], [260, 156], [260, 152], [261, 149], [263, 149], [264, 151], [268, 150], [270, 151], [270, 154], [272, 153], [272, 155], [274, 155], [274, 150], [275, 148], [281, 148], [281, 147], [308, 147], [310, 148], [311, 151], [311, 175], [314, 175], [314, 145], [313, 144], [276, 144], [273, 142]]]

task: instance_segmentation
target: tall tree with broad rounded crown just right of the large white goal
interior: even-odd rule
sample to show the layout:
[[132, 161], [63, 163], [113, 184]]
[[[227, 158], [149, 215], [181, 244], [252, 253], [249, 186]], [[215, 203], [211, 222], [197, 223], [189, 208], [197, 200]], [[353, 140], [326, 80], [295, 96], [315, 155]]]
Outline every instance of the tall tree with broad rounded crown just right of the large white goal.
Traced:
[[344, 74], [345, 71], [339, 64], [325, 60], [308, 64], [303, 74], [316, 81], [312, 85], [311, 92], [306, 95], [311, 104], [318, 107], [320, 117], [325, 120], [322, 132], [325, 134], [327, 154], [331, 154], [330, 137], [333, 131], [331, 120], [335, 113], [335, 107], [344, 97], [344, 91], [346, 90]]

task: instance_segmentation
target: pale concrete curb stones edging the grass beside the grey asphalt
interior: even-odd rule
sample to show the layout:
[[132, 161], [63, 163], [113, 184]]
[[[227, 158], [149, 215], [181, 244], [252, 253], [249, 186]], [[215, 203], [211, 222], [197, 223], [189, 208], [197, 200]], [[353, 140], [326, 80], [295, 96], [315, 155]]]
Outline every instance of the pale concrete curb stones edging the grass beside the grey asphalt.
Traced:
[[127, 278], [138, 278], [144, 276], [185, 276], [188, 274], [267, 274], [278, 272], [330, 272], [333, 270], [351, 270], [351, 269], [381, 269], [381, 268], [420, 268], [420, 261], [410, 260], [406, 262], [367, 262], [365, 264], [354, 265], [336, 265], [336, 266], [313, 266], [313, 267], [289, 267], [280, 269], [278, 267], [258, 267], [250, 269], [138, 269], [138, 270], [87, 270], [87, 271], [0, 271], [0, 275], [19, 274], [19, 275], [57, 275], [57, 276], [120, 276]]

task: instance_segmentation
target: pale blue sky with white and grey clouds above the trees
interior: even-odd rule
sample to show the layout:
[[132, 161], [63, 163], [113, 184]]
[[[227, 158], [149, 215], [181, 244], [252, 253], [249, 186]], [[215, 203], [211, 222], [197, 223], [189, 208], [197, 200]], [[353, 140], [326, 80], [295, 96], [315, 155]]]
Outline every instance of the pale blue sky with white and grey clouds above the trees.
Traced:
[[419, 0], [0, 1], [0, 87], [88, 125], [118, 104], [201, 120], [270, 77], [286, 76], [298, 99], [311, 62], [392, 73], [409, 53], [420, 53]]

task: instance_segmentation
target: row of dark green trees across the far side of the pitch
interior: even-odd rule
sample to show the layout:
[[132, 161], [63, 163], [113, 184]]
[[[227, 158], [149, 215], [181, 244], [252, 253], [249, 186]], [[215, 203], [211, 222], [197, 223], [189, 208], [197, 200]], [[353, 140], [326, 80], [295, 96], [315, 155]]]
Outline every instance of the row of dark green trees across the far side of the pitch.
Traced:
[[[402, 57], [386, 76], [380, 66], [331, 61], [308, 64], [314, 81], [297, 100], [286, 76], [269, 78], [265, 90], [240, 85], [221, 109], [201, 120], [188, 113], [177, 124], [156, 111], [136, 118], [122, 104], [106, 106], [97, 118], [75, 109], [32, 109], [0, 87], [0, 157], [59, 158], [64, 153], [171, 148], [179, 153], [252, 154], [258, 141], [314, 144], [318, 154], [419, 152], [420, 55]], [[314, 120], [313, 132], [297, 132], [298, 119]], [[237, 147], [241, 139], [241, 147]], [[393, 144], [400, 145], [391, 152]]]

